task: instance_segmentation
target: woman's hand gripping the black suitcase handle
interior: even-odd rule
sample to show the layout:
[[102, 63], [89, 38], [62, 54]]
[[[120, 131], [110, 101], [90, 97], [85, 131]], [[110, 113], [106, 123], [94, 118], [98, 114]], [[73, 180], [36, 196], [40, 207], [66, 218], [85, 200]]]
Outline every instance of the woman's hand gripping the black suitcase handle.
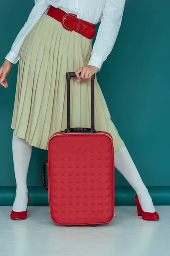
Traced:
[[[77, 82], [80, 82], [82, 80], [88, 79], [91, 80], [91, 77], [99, 72], [99, 68], [95, 66], [85, 66], [85, 67], [80, 67], [76, 72], [77, 76]], [[79, 76], [79, 73], [81, 73], [81, 76]]]

